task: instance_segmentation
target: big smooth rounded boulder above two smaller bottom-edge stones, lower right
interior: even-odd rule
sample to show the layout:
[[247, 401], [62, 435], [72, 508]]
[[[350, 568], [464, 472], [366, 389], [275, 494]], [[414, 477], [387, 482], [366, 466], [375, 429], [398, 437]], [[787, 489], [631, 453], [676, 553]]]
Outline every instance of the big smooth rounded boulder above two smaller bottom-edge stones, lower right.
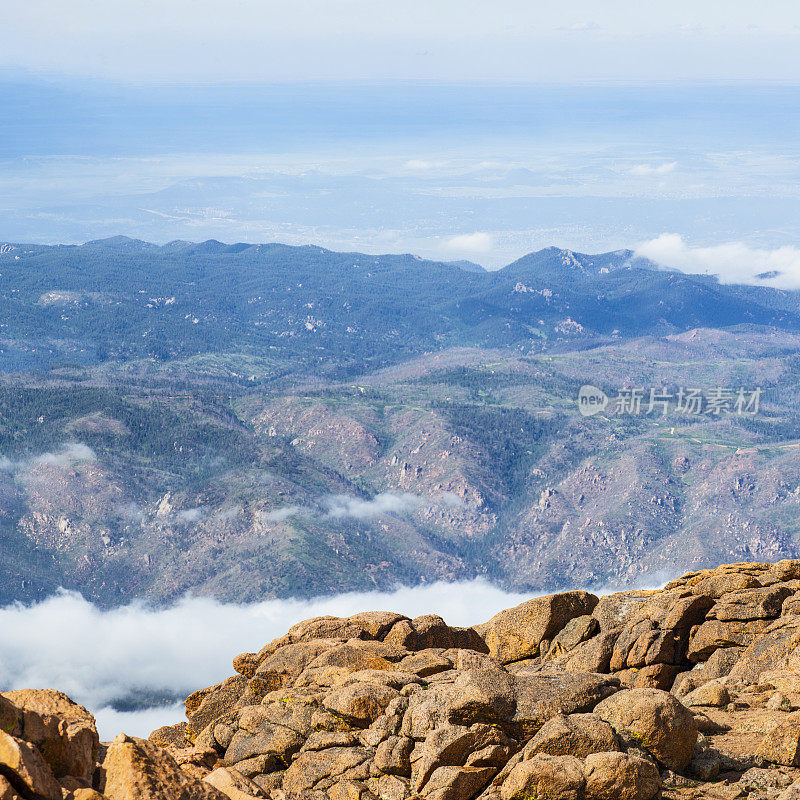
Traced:
[[681, 772], [692, 759], [697, 722], [692, 712], [668, 692], [626, 689], [603, 700], [594, 713], [668, 769]]

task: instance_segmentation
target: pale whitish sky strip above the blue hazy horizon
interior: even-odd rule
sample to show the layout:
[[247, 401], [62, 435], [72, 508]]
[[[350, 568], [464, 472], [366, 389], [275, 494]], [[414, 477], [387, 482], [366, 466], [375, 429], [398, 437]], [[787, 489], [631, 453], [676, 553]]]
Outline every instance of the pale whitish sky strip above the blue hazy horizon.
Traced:
[[0, 65], [134, 80], [800, 81], [794, 0], [5, 0]]

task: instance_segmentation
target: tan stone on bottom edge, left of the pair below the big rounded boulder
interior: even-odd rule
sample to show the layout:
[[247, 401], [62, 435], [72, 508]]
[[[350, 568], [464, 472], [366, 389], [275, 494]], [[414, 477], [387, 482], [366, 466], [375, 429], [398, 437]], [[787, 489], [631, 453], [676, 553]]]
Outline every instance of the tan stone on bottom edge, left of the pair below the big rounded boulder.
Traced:
[[586, 776], [574, 756], [535, 755], [511, 770], [500, 788], [502, 800], [579, 800]]

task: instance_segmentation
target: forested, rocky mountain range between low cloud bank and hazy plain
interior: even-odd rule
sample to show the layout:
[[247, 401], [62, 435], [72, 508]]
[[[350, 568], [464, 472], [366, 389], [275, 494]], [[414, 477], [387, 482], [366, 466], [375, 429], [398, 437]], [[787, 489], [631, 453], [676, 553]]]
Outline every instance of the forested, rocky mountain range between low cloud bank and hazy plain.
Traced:
[[[0, 601], [526, 591], [795, 557], [800, 293], [547, 248], [0, 248]], [[762, 390], [583, 417], [583, 384]]]

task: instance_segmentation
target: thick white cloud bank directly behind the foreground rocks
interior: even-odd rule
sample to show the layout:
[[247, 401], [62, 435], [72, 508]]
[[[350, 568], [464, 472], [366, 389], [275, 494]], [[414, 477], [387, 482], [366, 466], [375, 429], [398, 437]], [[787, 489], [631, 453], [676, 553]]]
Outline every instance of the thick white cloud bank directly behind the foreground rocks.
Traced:
[[[183, 718], [170, 698], [217, 683], [232, 673], [237, 653], [258, 650], [309, 617], [392, 610], [472, 625], [531, 596], [472, 580], [311, 600], [236, 605], [187, 597], [167, 608], [136, 602], [101, 610], [62, 591], [0, 608], [0, 689], [60, 689], [96, 714], [104, 738], [120, 730], [147, 735]], [[137, 696], [161, 698], [161, 705], [118, 710]]]

